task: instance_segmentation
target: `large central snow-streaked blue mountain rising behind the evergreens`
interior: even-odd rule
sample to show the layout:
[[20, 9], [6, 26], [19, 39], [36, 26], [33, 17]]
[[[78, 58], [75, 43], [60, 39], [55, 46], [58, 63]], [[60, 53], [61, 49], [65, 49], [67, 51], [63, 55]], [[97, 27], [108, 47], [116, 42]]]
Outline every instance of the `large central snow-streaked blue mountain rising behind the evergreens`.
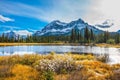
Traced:
[[70, 23], [60, 22], [59, 20], [53, 21], [45, 26], [42, 30], [36, 31], [34, 35], [37, 36], [48, 36], [48, 35], [69, 35], [72, 29], [77, 29], [78, 31], [84, 31], [84, 29], [92, 29], [95, 34], [100, 34], [103, 31], [95, 28], [84, 22], [82, 19], [72, 21]]

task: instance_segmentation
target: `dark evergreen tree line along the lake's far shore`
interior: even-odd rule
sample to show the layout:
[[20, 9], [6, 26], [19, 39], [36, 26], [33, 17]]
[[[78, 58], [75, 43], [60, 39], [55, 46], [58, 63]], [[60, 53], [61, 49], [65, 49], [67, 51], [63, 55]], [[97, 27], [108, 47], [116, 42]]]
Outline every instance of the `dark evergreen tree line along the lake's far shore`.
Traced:
[[26, 42], [26, 43], [120, 43], [119, 33], [110, 33], [104, 31], [101, 34], [95, 34], [92, 29], [86, 27], [84, 30], [72, 29], [71, 34], [64, 36], [36, 36], [27, 37], [8, 37], [4, 33], [0, 36], [0, 42]]

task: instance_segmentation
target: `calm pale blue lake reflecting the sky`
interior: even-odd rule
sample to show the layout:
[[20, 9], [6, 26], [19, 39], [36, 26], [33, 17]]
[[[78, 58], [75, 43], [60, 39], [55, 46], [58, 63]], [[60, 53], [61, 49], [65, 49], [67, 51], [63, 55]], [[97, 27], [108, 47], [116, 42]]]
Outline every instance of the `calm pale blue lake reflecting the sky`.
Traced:
[[33, 46], [1, 46], [0, 55], [14, 55], [14, 54], [48, 54], [50, 52], [56, 53], [92, 53], [92, 54], [109, 54], [109, 63], [120, 63], [120, 48], [105, 48], [96, 46], [46, 46], [46, 45], [33, 45]]

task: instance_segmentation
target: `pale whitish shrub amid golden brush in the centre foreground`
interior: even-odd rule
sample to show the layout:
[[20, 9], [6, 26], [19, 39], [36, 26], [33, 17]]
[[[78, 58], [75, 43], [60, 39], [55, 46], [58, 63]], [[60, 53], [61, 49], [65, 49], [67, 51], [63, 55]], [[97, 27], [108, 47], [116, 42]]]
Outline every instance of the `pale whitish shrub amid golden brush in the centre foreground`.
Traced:
[[68, 71], [72, 71], [74, 67], [74, 63], [66, 60], [40, 60], [40, 63], [36, 66], [39, 71], [53, 71], [56, 73], [66, 73]]

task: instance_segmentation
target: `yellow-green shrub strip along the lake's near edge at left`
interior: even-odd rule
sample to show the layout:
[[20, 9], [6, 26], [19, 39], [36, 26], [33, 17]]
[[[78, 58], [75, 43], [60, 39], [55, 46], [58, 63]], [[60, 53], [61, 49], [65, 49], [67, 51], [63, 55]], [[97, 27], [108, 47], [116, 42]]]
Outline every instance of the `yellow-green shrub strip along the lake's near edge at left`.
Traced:
[[32, 66], [37, 60], [40, 60], [42, 55], [31, 54], [31, 55], [12, 55], [12, 56], [0, 56], [0, 65], [15, 65], [23, 64]]

